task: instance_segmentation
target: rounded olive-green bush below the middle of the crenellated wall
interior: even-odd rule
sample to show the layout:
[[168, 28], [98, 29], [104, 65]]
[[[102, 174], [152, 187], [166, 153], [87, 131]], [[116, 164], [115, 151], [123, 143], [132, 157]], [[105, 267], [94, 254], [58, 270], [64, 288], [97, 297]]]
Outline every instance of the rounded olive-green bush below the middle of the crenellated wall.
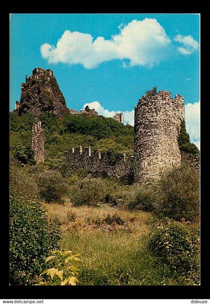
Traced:
[[70, 187], [70, 198], [74, 205], [97, 205], [105, 194], [101, 179], [83, 178]]

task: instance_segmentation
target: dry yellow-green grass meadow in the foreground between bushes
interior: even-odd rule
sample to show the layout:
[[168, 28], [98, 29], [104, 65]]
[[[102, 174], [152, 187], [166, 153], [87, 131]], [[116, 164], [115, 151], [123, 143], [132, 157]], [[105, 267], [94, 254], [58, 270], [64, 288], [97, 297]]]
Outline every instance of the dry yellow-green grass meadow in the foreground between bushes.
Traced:
[[[63, 205], [43, 203], [43, 208], [49, 218], [56, 216], [62, 222], [61, 248], [81, 254], [80, 285], [177, 284], [167, 267], [145, 248], [150, 213], [119, 210], [108, 204], [74, 207], [67, 200]], [[76, 213], [75, 221], [68, 222], [68, 211]], [[115, 213], [124, 220], [123, 225], [97, 225], [86, 220]]]

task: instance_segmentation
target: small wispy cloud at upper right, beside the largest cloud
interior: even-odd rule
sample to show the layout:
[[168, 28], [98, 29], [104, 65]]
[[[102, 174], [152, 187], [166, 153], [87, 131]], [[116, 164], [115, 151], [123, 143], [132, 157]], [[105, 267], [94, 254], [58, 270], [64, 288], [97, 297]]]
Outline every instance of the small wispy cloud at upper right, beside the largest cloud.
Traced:
[[178, 51], [183, 55], [190, 55], [193, 51], [196, 51], [199, 46], [198, 42], [190, 35], [176, 35], [173, 40], [183, 45], [183, 47], [177, 48]]

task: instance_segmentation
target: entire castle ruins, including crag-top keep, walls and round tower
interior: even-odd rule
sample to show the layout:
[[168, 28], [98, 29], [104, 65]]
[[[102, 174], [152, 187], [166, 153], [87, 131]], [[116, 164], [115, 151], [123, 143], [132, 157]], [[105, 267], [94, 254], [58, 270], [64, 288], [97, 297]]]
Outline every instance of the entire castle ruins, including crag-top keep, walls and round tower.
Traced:
[[[68, 109], [64, 97], [56, 83], [51, 70], [35, 68], [30, 77], [25, 76], [21, 84], [20, 102], [15, 102], [18, 115], [32, 113], [36, 120], [43, 112], [52, 112], [58, 117], [65, 114], [98, 116], [88, 106], [84, 110]], [[123, 114], [113, 117], [123, 124]], [[93, 175], [111, 176], [119, 179], [130, 179], [135, 182], [147, 178], [159, 178], [162, 170], [179, 166], [181, 161], [191, 162], [191, 158], [181, 153], [178, 146], [178, 134], [181, 121], [184, 119], [184, 99], [168, 91], [159, 91], [153, 95], [142, 96], [134, 111], [134, 149], [133, 156], [119, 154], [113, 162], [109, 152], [94, 151], [90, 147], [71, 148], [63, 152], [69, 171], [86, 168]], [[44, 161], [44, 131], [40, 121], [32, 129], [32, 150], [35, 161]], [[199, 171], [199, 159], [193, 158], [193, 166]]]

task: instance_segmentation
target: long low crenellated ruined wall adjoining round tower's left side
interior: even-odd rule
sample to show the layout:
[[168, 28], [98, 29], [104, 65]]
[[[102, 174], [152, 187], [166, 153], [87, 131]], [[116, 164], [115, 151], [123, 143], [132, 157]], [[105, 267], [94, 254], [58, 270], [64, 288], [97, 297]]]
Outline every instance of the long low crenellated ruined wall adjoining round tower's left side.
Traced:
[[85, 168], [95, 177], [115, 177], [125, 182], [133, 178], [133, 157], [126, 157], [125, 153], [119, 153], [113, 159], [108, 152], [97, 150], [91, 153], [90, 147], [82, 150], [79, 146], [64, 151], [63, 156], [71, 173]]

